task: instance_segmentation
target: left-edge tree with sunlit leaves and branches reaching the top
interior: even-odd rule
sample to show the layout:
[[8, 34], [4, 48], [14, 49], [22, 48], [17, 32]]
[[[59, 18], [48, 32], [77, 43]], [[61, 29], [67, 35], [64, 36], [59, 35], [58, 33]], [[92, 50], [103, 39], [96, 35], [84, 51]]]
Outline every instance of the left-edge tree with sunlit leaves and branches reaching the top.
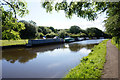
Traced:
[[[29, 12], [26, 2], [23, 0], [2, 0], [0, 5], [2, 11], [2, 39], [20, 39], [19, 32], [25, 27], [23, 23], [17, 21], [17, 14], [23, 17]], [[3, 7], [7, 9], [5, 10]]]

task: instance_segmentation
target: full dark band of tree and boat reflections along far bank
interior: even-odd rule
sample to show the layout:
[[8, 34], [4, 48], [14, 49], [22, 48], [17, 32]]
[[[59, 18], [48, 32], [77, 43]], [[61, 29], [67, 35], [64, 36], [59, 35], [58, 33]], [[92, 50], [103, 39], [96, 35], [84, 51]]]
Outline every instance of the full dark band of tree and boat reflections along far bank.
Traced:
[[72, 44], [56, 44], [48, 46], [40, 46], [33, 48], [11, 48], [2, 50], [2, 59], [15, 63], [16, 61], [20, 63], [26, 63], [37, 57], [37, 52], [44, 53], [47, 51], [54, 51], [55, 49], [65, 49], [68, 48], [70, 51], [78, 52], [82, 48], [91, 49], [95, 44], [81, 45], [79, 43]]

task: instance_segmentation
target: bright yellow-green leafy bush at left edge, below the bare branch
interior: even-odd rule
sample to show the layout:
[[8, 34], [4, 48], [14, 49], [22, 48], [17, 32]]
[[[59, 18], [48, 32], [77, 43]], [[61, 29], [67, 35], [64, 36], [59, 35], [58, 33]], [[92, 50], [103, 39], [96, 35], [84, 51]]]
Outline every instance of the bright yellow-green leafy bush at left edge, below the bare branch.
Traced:
[[19, 32], [24, 30], [24, 24], [21, 22], [17, 22], [17, 19], [12, 17], [12, 12], [2, 10], [2, 39], [10, 40], [10, 39], [20, 39]]

